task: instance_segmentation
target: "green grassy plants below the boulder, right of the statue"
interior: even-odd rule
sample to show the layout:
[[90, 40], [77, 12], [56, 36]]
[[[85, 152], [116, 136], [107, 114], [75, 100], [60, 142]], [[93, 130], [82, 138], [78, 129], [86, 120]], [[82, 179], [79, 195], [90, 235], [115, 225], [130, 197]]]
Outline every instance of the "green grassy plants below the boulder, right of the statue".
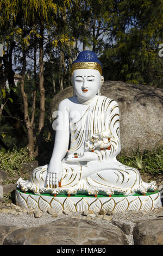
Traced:
[[[133, 150], [132, 150], [133, 151]], [[162, 174], [163, 173], [163, 149], [155, 151], [145, 151], [143, 154], [137, 148], [136, 153], [133, 151], [132, 157], [118, 156], [117, 160], [121, 163], [139, 169], [142, 173]]]

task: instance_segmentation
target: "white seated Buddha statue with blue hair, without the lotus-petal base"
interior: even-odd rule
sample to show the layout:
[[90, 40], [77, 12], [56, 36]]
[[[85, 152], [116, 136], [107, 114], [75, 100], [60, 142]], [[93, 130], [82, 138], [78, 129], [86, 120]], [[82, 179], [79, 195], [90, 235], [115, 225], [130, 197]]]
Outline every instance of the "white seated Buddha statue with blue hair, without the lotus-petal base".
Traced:
[[54, 196], [133, 195], [156, 190], [154, 181], [142, 181], [137, 169], [116, 160], [121, 151], [119, 107], [101, 95], [103, 82], [96, 54], [80, 52], [72, 64], [74, 96], [59, 104], [51, 161], [34, 169], [30, 180], [18, 179], [18, 188]]

